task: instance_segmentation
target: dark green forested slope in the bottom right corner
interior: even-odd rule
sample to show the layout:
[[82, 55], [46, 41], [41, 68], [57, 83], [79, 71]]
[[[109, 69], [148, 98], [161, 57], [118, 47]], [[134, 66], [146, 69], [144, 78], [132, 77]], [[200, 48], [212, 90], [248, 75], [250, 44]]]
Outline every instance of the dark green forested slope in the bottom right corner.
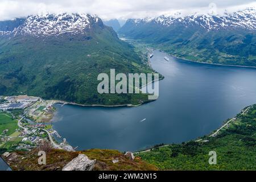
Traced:
[[[255, 170], [256, 105], [217, 137], [157, 147], [139, 154], [143, 160], [164, 170]], [[217, 152], [217, 164], [209, 165], [210, 151]]]

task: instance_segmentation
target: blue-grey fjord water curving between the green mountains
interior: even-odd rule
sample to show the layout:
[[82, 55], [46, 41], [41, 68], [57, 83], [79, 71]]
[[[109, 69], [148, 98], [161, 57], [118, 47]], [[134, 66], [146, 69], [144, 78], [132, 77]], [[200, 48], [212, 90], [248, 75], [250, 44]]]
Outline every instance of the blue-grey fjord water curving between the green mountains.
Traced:
[[[243, 107], [256, 104], [256, 69], [193, 63], [154, 51], [165, 78], [159, 98], [139, 107], [56, 105], [53, 128], [77, 150], [136, 151], [207, 135]], [[146, 118], [146, 120], [143, 120]]]

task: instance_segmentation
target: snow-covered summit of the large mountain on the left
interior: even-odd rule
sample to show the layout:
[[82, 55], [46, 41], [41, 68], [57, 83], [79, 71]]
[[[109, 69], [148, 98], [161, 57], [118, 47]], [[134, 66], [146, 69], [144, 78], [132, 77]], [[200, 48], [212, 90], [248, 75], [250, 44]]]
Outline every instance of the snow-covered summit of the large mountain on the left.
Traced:
[[[96, 15], [89, 14], [44, 14], [28, 16], [24, 22], [15, 27], [12, 35], [58, 36], [61, 34], [85, 34], [94, 24], [103, 24]], [[0, 35], [10, 34], [2, 31]]]

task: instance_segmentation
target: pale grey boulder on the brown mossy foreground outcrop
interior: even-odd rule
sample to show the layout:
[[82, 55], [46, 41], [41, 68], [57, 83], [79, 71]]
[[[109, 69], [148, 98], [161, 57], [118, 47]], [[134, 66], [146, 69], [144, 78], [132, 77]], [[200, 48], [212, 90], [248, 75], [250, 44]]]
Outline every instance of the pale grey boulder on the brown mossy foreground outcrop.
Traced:
[[79, 154], [71, 160], [62, 171], [92, 171], [96, 160], [90, 160], [86, 155]]

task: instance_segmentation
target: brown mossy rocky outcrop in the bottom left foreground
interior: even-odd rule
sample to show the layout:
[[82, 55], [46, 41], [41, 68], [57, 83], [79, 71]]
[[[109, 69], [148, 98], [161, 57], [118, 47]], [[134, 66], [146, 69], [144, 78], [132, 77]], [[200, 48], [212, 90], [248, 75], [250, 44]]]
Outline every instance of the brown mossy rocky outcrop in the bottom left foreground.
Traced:
[[[38, 163], [38, 151], [41, 150], [46, 151], [46, 165]], [[134, 158], [131, 152], [125, 155], [117, 150], [65, 151], [40, 147], [32, 151], [6, 153], [2, 157], [14, 171], [154, 171], [158, 169], [138, 156]]]

